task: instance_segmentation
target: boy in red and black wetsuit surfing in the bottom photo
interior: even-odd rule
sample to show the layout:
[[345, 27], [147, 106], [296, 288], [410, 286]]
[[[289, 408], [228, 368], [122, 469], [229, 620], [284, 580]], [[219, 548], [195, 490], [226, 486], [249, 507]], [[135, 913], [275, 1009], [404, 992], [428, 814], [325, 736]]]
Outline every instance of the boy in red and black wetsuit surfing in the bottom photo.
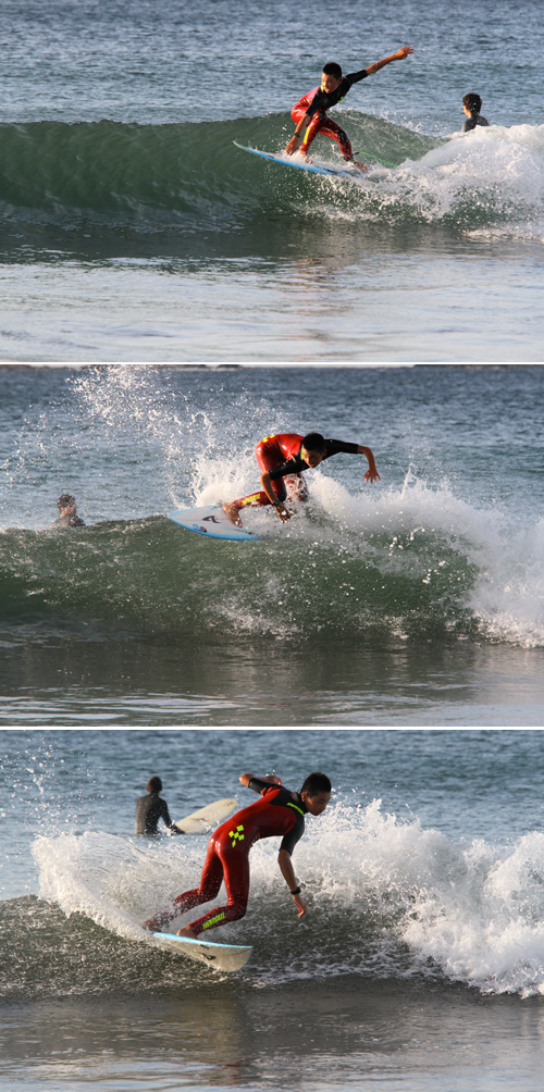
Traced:
[[283, 834], [277, 864], [289, 889], [298, 917], [306, 913], [306, 902], [291, 862], [296, 843], [304, 834], [306, 815], [320, 816], [331, 798], [331, 783], [324, 773], [310, 773], [299, 793], [282, 786], [280, 778], [253, 778], [243, 773], [243, 785], [259, 793], [260, 800], [237, 811], [217, 827], [208, 843], [208, 853], [200, 887], [184, 891], [167, 910], [144, 922], [144, 928], [156, 931], [173, 918], [193, 906], [215, 899], [223, 880], [227, 892], [224, 906], [214, 906], [203, 917], [179, 929], [178, 937], [196, 938], [199, 933], [244, 917], [249, 895], [249, 851], [261, 838]]

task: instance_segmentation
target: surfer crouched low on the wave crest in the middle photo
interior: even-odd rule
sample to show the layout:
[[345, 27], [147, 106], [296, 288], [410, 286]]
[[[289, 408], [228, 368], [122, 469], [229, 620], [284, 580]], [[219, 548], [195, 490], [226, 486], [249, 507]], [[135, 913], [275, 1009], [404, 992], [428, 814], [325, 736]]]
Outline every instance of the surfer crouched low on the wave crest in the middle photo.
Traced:
[[279, 432], [275, 436], [265, 436], [255, 449], [257, 462], [263, 472], [262, 490], [252, 492], [248, 497], [240, 497], [238, 500], [230, 500], [223, 505], [223, 510], [232, 523], [241, 527], [239, 515], [241, 508], [273, 505], [280, 519], [285, 522], [291, 515], [284, 505], [287, 497], [284, 479], [287, 478], [289, 486], [289, 499], [307, 500], [308, 488], [300, 472], [312, 470], [319, 466], [323, 459], [330, 459], [340, 452], [365, 455], [368, 462], [365, 482], [381, 480], [370, 448], [362, 443], [326, 440], [320, 432], [308, 432], [306, 436], [299, 436], [298, 432]]

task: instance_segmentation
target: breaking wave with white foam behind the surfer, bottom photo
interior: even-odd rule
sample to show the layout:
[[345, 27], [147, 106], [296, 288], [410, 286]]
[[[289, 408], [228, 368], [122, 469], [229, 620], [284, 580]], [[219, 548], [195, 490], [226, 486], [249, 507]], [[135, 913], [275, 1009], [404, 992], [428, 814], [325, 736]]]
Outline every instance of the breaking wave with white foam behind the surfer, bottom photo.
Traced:
[[[33, 844], [39, 899], [0, 907], [11, 968], [2, 996], [205, 984], [206, 969], [156, 952], [140, 926], [194, 886], [203, 847], [198, 838], [159, 844], [92, 832], [39, 838]], [[297, 846], [310, 928], [293, 927], [275, 858], [269, 840], [251, 851], [243, 931], [244, 942], [255, 945], [246, 971], [253, 985], [355, 974], [544, 994], [540, 831], [507, 845], [454, 841], [416, 818], [385, 812], [380, 800], [366, 808], [336, 803], [308, 824]], [[239, 942], [240, 925], [214, 939]]]

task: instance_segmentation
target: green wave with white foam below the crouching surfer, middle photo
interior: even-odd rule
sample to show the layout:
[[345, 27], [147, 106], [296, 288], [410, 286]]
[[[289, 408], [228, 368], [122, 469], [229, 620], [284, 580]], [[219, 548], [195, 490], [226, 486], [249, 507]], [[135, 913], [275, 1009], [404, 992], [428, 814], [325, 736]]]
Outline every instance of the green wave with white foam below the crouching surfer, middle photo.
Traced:
[[[225, 472], [201, 487], [197, 503], [235, 495]], [[401, 489], [352, 496], [320, 472], [310, 503], [288, 524], [271, 509], [245, 519], [260, 542], [202, 542], [158, 515], [76, 533], [7, 530], [3, 638], [26, 640], [29, 628], [45, 627], [82, 640], [162, 633], [327, 643], [336, 634], [363, 643], [544, 644], [544, 521], [511, 526], [502, 513], [411, 475]]]

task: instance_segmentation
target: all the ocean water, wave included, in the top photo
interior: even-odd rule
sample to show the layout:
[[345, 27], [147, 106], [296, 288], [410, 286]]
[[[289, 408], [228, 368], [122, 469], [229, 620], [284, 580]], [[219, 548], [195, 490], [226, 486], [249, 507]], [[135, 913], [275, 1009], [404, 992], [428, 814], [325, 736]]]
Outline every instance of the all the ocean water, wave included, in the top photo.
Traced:
[[[0, 358], [540, 361], [539, 0], [5, 0]], [[326, 60], [352, 182], [265, 164]], [[462, 96], [492, 122], [460, 134]], [[317, 159], [338, 162], [321, 138]]]

